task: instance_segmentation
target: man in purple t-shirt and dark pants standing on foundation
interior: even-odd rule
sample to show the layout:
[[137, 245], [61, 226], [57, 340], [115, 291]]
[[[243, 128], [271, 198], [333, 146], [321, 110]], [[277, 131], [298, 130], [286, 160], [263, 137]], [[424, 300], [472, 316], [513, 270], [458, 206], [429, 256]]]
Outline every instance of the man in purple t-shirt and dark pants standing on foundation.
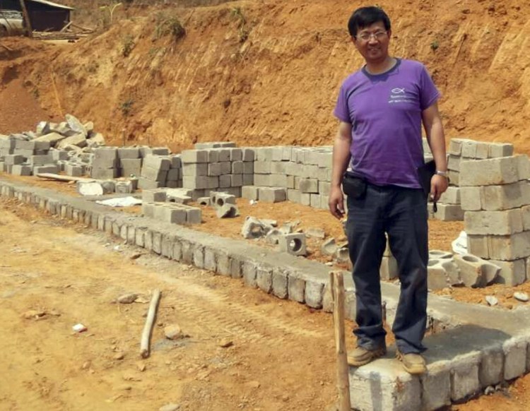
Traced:
[[390, 20], [381, 8], [358, 8], [348, 30], [366, 64], [346, 78], [338, 95], [329, 196], [336, 218], [344, 215], [342, 190], [348, 196], [358, 324], [348, 363], [360, 367], [387, 352], [379, 284], [387, 233], [401, 281], [392, 327], [397, 357], [406, 371], [421, 374], [426, 371], [420, 353], [427, 322], [428, 213], [417, 169], [424, 164], [423, 124], [436, 162], [430, 196], [437, 201], [448, 183], [440, 93], [423, 64], [389, 55]]

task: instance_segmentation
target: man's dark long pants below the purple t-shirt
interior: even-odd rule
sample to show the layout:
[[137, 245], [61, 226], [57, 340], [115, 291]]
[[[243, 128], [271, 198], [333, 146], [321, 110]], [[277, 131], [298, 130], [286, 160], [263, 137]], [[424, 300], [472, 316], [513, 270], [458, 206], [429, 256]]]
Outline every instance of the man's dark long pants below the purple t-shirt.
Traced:
[[420, 189], [367, 185], [361, 199], [348, 197], [348, 243], [357, 297], [358, 345], [384, 347], [379, 267], [389, 236], [399, 268], [401, 295], [392, 331], [399, 350], [422, 352], [427, 323], [427, 198]]

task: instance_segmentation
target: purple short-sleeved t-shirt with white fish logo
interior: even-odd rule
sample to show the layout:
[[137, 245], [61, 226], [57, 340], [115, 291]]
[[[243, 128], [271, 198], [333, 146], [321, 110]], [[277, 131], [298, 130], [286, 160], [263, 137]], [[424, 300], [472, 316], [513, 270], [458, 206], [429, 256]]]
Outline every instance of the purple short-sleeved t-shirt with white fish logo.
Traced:
[[372, 184], [419, 189], [421, 113], [440, 97], [418, 61], [397, 59], [386, 73], [363, 67], [341, 86], [335, 116], [352, 124], [351, 168]]

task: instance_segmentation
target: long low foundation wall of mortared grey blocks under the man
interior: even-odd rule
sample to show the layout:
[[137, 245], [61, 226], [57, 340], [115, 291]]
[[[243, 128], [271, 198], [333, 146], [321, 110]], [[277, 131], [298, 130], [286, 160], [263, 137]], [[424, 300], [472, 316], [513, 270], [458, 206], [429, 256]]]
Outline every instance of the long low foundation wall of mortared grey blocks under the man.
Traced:
[[[221, 239], [124, 215], [83, 198], [0, 179], [0, 195], [18, 198], [59, 218], [71, 219], [136, 244], [165, 258], [194, 264], [219, 275], [244, 280], [249, 287], [280, 299], [331, 311], [329, 267], [247, 242]], [[346, 317], [355, 318], [355, 290], [345, 273]], [[389, 323], [399, 300], [399, 287], [382, 283]], [[411, 376], [393, 359], [350, 369], [352, 403], [358, 410], [435, 410], [478, 395], [487, 386], [530, 371], [527, 313], [491, 310], [430, 295], [429, 316], [440, 331], [425, 338], [428, 373]], [[450, 321], [450, 322], [447, 322]], [[453, 328], [454, 326], [460, 326]]]

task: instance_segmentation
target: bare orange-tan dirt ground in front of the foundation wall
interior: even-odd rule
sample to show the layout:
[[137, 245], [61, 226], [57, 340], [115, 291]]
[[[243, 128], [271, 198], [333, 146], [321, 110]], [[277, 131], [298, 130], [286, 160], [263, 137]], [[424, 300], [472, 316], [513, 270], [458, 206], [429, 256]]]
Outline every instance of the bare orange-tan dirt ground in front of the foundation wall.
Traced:
[[[8, 371], [0, 373], [0, 409], [155, 410], [176, 403], [182, 410], [298, 411], [334, 404], [331, 315], [14, 200], [1, 198], [0, 209], [0, 321], [8, 336], [0, 339]], [[155, 288], [163, 297], [153, 350], [141, 359]], [[143, 303], [117, 304], [126, 292], [138, 292]], [[88, 330], [73, 332], [76, 323]], [[187, 337], [165, 339], [163, 328], [172, 324]], [[232, 345], [221, 347], [225, 342]], [[348, 347], [353, 343], [348, 332]], [[452, 409], [527, 410], [529, 384], [526, 376]]]

